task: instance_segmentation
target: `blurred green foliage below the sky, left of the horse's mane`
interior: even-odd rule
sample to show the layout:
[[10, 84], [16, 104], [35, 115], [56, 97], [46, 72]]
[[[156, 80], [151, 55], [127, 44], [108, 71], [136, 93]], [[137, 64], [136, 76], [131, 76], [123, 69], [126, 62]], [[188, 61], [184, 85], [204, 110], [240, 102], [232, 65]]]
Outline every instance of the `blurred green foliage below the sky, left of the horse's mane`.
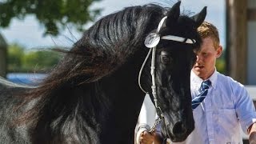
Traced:
[[8, 48], [8, 72], [46, 72], [62, 58], [52, 50], [26, 51], [22, 46], [12, 44]]

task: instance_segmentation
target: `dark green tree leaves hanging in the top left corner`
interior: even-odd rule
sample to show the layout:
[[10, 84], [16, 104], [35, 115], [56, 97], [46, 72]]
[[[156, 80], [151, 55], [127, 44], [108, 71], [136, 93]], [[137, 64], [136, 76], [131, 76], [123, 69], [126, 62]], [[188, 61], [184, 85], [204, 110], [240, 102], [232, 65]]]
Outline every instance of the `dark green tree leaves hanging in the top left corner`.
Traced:
[[23, 19], [34, 14], [43, 26], [45, 34], [57, 35], [67, 24], [78, 30], [86, 22], [94, 21], [100, 9], [90, 10], [93, 2], [100, 0], [6, 0], [0, 2], [0, 26], [7, 27], [12, 18]]

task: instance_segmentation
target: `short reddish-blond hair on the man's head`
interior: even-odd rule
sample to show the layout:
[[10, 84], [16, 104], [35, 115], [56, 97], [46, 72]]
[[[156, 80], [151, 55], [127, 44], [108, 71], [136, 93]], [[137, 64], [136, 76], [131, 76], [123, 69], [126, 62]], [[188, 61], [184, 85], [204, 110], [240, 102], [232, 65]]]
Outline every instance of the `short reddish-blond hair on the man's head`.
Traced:
[[217, 49], [219, 46], [219, 35], [216, 26], [210, 22], [202, 22], [202, 25], [198, 27], [198, 33], [201, 38], [212, 38], [214, 41], [214, 48]]

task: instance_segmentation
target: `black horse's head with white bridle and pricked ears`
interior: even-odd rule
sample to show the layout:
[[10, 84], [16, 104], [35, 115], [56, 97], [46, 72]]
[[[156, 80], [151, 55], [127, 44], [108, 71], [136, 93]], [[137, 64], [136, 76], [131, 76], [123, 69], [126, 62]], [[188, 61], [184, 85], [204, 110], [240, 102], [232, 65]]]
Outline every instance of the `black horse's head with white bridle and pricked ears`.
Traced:
[[196, 58], [194, 50], [198, 50], [201, 43], [197, 28], [206, 17], [206, 7], [188, 17], [180, 15], [179, 6], [177, 2], [159, 22], [158, 29], [146, 38], [153, 57], [151, 62], [146, 62], [147, 71], [142, 71], [142, 75], [147, 73], [142, 78], [149, 79], [142, 87], [149, 92], [162, 118], [162, 134], [173, 142], [184, 141], [194, 130], [190, 70]]

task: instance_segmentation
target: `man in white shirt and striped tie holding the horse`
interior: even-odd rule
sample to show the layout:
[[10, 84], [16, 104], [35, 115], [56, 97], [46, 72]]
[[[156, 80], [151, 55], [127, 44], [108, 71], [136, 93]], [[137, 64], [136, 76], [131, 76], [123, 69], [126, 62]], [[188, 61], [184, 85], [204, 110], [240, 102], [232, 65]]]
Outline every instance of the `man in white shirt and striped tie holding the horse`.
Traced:
[[[241, 83], [215, 68], [216, 59], [222, 54], [217, 28], [203, 22], [198, 33], [202, 46], [196, 52], [197, 60], [190, 76], [195, 129], [185, 142], [177, 143], [242, 143], [240, 125], [249, 134], [250, 144], [256, 143], [256, 112], [248, 92]], [[199, 88], [202, 90], [202, 82], [206, 81], [209, 83], [202, 94]], [[137, 136], [138, 143], [161, 143], [161, 136], [146, 130], [138, 131]]]

